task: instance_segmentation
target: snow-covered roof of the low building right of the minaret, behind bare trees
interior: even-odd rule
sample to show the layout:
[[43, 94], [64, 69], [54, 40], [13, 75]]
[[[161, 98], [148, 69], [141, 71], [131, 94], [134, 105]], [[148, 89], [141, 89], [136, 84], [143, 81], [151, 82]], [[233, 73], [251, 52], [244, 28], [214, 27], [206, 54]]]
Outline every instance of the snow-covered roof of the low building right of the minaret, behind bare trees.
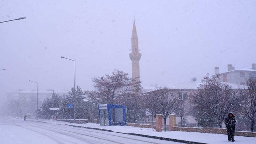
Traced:
[[[221, 83], [225, 83], [225, 84], [231, 86], [232, 89], [234, 89], [234, 90], [247, 89], [247, 86], [238, 85], [236, 83], [229, 83], [229, 82], [221, 82]], [[197, 90], [197, 88], [200, 85], [203, 85], [203, 83], [202, 82], [194, 82], [194, 81], [183, 81], [183, 82], [174, 82], [171, 85], [167, 85], [167, 87], [170, 90]], [[143, 92], [143, 93], [148, 93], [148, 92], [152, 92], [155, 90], [157, 90], [156, 87], [148, 90], [147, 92]]]

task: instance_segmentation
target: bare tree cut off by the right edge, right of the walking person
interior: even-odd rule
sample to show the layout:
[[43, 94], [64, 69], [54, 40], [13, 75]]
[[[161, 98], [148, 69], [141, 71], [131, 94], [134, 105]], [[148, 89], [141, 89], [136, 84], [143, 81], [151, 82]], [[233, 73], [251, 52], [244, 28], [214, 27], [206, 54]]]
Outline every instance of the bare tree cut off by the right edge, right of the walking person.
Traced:
[[253, 132], [256, 113], [256, 78], [249, 78], [246, 83], [247, 87], [240, 90], [235, 100], [243, 108], [245, 116], [251, 121], [251, 132]]

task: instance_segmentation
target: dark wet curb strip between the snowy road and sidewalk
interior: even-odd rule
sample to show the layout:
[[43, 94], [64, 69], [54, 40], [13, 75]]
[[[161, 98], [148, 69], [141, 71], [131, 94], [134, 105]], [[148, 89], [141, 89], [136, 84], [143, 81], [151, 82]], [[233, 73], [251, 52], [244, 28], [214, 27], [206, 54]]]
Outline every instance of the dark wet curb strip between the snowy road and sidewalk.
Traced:
[[[65, 125], [69, 125], [69, 124], [65, 124]], [[107, 131], [107, 132], [114, 132], [114, 131], [111, 131], [111, 130], [108, 130], [108, 129], [91, 128], [91, 127], [82, 127], [82, 126], [77, 126], [77, 125], [69, 125], [69, 126], [77, 127], [77, 128], [95, 129], [95, 130]], [[122, 133], [122, 134], [126, 134], [126, 135], [148, 137], [148, 138], [158, 139], [158, 140], [174, 141], [174, 142], [185, 143], [185, 144], [207, 144], [207, 143], [199, 143], [199, 142], [195, 142], [195, 141], [171, 139], [171, 138], [166, 138], [166, 137], [141, 135], [141, 134], [137, 134], [137, 133], [123, 133], [123, 132], [115, 132], [115, 133]]]

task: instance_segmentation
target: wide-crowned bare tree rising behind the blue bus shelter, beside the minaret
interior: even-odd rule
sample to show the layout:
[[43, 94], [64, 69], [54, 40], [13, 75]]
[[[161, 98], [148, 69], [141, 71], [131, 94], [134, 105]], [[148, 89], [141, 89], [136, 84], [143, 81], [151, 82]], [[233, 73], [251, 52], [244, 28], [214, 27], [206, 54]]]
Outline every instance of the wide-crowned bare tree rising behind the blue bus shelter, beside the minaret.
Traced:
[[127, 93], [140, 93], [140, 82], [128, 73], [115, 70], [112, 75], [93, 78], [95, 91], [86, 91], [88, 97], [99, 104], [118, 104]]

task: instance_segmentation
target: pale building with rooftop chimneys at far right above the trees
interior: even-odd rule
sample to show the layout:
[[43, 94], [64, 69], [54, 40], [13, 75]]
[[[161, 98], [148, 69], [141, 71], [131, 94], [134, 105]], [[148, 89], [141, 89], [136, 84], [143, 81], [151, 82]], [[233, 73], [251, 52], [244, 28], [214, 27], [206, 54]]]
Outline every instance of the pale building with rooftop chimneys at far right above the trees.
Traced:
[[256, 77], [256, 63], [252, 63], [252, 68], [235, 69], [235, 66], [228, 64], [228, 71], [220, 73], [220, 68], [215, 67], [215, 75], [220, 75], [219, 81], [246, 85], [246, 79]]

